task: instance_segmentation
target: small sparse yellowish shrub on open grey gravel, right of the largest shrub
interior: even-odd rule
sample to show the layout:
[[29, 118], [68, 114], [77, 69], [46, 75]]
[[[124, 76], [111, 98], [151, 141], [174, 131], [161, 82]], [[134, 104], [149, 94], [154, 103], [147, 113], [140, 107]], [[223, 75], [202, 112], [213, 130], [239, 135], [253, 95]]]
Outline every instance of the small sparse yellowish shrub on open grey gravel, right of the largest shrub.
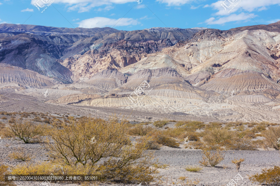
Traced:
[[224, 160], [224, 154], [221, 150], [210, 151], [208, 149], [203, 149], [202, 160], [199, 163], [203, 166], [211, 165], [212, 167], [218, 165]]

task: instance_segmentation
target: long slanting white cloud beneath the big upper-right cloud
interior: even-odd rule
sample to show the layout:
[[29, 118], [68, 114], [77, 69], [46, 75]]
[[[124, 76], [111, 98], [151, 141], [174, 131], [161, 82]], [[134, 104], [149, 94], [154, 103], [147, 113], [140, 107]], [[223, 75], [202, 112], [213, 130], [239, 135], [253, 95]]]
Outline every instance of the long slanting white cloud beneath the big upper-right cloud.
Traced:
[[[249, 16], [250, 15], [250, 16]], [[219, 19], [215, 19], [214, 17], [209, 18], [205, 21], [206, 24], [225, 24], [227, 22], [231, 21], [244, 21], [256, 17], [257, 15], [254, 14], [246, 14], [244, 12], [241, 12], [240, 14], [231, 14], [226, 17], [220, 17]], [[214, 20], [215, 19], [215, 20]]]

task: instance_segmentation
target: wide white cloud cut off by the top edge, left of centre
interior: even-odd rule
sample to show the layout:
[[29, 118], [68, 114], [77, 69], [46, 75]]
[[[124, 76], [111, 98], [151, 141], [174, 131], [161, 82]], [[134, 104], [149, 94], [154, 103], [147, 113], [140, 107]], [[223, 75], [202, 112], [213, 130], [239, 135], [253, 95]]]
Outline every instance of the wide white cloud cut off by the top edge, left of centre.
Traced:
[[[51, 0], [44, 0], [45, 2], [51, 2]], [[31, 4], [34, 5], [38, 0], [31, 0]], [[127, 2], [135, 2], [135, 0], [55, 0], [54, 3], [66, 4], [68, 6], [68, 11], [86, 12], [90, 11], [91, 8], [100, 7], [103, 5], [112, 5], [112, 4], [124, 4]], [[44, 3], [41, 1], [38, 2], [41, 6]]]

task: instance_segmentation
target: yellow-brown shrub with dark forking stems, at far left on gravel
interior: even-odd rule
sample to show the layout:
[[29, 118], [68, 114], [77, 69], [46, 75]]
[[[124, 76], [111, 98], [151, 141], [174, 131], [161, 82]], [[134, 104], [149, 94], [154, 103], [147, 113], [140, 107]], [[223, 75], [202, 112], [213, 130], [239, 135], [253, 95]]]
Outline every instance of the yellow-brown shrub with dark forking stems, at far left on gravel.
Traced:
[[16, 140], [22, 140], [24, 143], [36, 141], [43, 134], [45, 126], [34, 125], [29, 120], [12, 119], [12, 123], [8, 124], [7, 135], [9, 137], [17, 137]]

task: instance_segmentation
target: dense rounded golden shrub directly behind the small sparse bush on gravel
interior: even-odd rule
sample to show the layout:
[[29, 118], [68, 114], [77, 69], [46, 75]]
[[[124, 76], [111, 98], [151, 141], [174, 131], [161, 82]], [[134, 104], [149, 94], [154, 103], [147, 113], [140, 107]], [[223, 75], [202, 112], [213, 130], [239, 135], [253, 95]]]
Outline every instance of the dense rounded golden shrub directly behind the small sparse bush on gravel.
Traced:
[[226, 140], [233, 138], [233, 134], [226, 128], [210, 128], [204, 131], [205, 136], [203, 136], [203, 141], [208, 144], [220, 144]]

